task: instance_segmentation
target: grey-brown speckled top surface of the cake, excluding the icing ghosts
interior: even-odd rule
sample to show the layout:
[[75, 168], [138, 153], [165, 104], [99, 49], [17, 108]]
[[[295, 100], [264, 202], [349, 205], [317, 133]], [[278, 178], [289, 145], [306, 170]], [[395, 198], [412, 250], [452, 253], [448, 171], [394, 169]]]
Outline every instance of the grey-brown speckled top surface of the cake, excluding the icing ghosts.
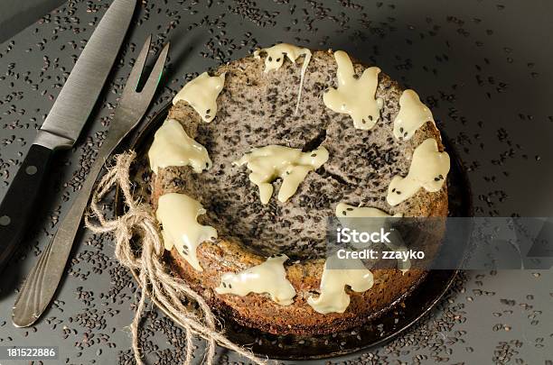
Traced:
[[[353, 66], [361, 77], [365, 67], [359, 62]], [[408, 141], [394, 137], [393, 119], [401, 96], [397, 83], [380, 73], [376, 88], [376, 98], [383, 101], [380, 119], [370, 130], [361, 130], [354, 127], [349, 114], [335, 113], [323, 103], [324, 91], [339, 87], [332, 52], [313, 53], [295, 114], [299, 69], [299, 63], [286, 60], [281, 68], [265, 73], [264, 62], [254, 57], [220, 67], [215, 75], [224, 73], [225, 83], [211, 123], [202, 122], [188, 103], [176, 103], [169, 117], [192, 131], [195, 141], [209, 151], [213, 166], [191, 178], [186, 169], [170, 169], [161, 176], [161, 190], [185, 191], [202, 202], [207, 213], [200, 220], [215, 227], [220, 236], [267, 256], [286, 253], [292, 259], [323, 255], [326, 220], [340, 202], [390, 214], [424, 214], [419, 199], [393, 208], [386, 202], [389, 182], [408, 174], [417, 144], [436, 135], [428, 124]], [[233, 164], [248, 151], [272, 144], [303, 151], [322, 146], [329, 152], [329, 159], [306, 175], [286, 204], [275, 198], [262, 204], [248, 179], [250, 171]], [[280, 179], [273, 183], [276, 191], [280, 184]], [[424, 200], [426, 193], [420, 195]]]

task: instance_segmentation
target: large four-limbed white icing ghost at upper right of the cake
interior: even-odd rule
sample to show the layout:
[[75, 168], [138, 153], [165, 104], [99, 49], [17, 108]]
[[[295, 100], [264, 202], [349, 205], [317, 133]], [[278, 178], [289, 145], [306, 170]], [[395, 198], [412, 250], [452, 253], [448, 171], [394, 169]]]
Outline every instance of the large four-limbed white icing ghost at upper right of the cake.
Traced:
[[380, 118], [383, 105], [382, 99], [375, 99], [380, 68], [367, 68], [361, 78], [355, 78], [353, 64], [346, 52], [337, 50], [334, 59], [338, 64], [338, 88], [330, 88], [323, 94], [324, 105], [336, 113], [350, 114], [355, 128], [372, 128]]

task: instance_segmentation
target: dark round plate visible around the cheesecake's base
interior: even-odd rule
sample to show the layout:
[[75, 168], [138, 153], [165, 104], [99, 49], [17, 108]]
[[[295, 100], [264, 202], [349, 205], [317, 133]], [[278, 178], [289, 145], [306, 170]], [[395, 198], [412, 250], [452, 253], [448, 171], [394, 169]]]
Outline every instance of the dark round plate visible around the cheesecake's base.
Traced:
[[[130, 140], [129, 148], [134, 149], [137, 153], [136, 163], [131, 171], [131, 180], [134, 181], [136, 194], [142, 196], [144, 201], [149, 200], [151, 177], [151, 172], [147, 168], [146, 152], [153, 141], [155, 131], [164, 122], [170, 107], [171, 105], [165, 105]], [[471, 190], [463, 166], [458, 160], [453, 146], [445, 137], [444, 144], [452, 161], [448, 177], [450, 215], [472, 216]], [[124, 204], [117, 189], [117, 214], [121, 214], [123, 209]], [[468, 242], [468, 240], [466, 241]], [[277, 336], [241, 326], [229, 319], [225, 319], [224, 331], [233, 342], [248, 347], [259, 356], [277, 360], [324, 359], [367, 350], [388, 342], [417, 323], [444, 296], [452, 285], [456, 274], [456, 270], [428, 272], [417, 287], [399, 298], [380, 315], [366, 324], [348, 331], [317, 336]], [[136, 273], [133, 275], [136, 278]], [[175, 320], [173, 315], [167, 313], [164, 306], [156, 302], [155, 304]], [[175, 322], [178, 323], [176, 320]]]

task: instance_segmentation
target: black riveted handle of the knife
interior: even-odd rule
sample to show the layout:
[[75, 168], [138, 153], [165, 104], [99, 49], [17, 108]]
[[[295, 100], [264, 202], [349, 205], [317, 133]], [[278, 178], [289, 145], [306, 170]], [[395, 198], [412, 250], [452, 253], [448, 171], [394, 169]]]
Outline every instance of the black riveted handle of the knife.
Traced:
[[33, 144], [0, 203], [0, 272], [23, 240], [52, 152]]

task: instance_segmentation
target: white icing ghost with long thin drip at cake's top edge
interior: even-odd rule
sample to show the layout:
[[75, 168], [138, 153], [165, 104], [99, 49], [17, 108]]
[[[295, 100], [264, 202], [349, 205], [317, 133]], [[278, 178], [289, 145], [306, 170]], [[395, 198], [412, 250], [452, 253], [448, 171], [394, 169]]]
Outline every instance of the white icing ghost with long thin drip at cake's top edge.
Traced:
[[292, 63], [295, 63], [295, 60], [298, 59], [300, 56], [305, 56], [304, 64], [302, 65], [302, 70], [300, 73], [300, 86], [299, 86], [299, 91], [297, 93], [297, 101], [295, 103], [294, 114], [297, 114], [297, 111], [299, 110], [300, 100], [302, 98], [302, 90], [304, 88], [305, 71], [307, 69], [307, 65], [309, 64], [309, 61], [311, 60], [311, 50], [297, 47], [293, 44], [280, 43], [270, 48], [256, 50], [254, 52], [254, 57], [257, 59], [260, 59], [261, 57], [259, 56], [259, 54], [261, 52], [267, 53], [267, 57], [265, 58], [265, 71], [264, 71], [266, 73], [272, 69], [281, 68], [284, 62], [285, 56], [288, 59], [290, 59]]

